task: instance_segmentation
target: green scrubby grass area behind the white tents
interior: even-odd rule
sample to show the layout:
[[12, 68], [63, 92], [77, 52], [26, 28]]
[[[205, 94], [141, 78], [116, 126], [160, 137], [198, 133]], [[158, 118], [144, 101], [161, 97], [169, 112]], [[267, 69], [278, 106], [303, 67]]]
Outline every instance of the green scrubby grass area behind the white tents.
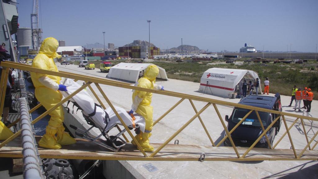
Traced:
[[[111, 60], [110, 62], [117, 65], [121, 62], [138, 63], [139, 60], [125, 61], [125, 60]], [[95, 68], [100, 67], [100, 61], [89, 61], [95, 64]], [[304, 64], [273, 64], [273, 63], [243, 63], [242, 65], [231, 64], [213, 64], [213, 62], [224, 62], [219, 60], [200, 61], [200, 62], [174, 62], [174, 61], [154, 61], [156, 64], [166, 70], [168, 78], [184, 80], [190, 82], [200, 82], [201, 76], [209, 68], [233, 68], [233, 69], [247, 69], [258, 73], [261, 80], [262, 89], [264, 88], [265, 78], [268, 77], [270, 81], [270, 92], [280, 93], [281, 95], [291, 96], [291, 89], [294, 85], [297, 87], [309, 87], [315, 94], [314, 99], [318, 100], [318, 63], [310, 61]], [[76, 61], [73, 64], [78, 65]], [[302, 70], [302, 71], [301, 71]], [[306, 71], [307, 70], [307, 71]]]

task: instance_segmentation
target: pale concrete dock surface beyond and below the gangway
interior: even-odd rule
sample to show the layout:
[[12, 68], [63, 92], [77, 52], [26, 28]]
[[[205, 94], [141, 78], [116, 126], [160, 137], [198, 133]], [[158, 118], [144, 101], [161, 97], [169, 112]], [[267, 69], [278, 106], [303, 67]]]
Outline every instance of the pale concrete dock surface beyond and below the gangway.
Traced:
[[[60, 71], [71, 72], [80, 75], [88, 75], [99, 78], [105, 78], [107, 75], [107, 73], [100, 72], [100, 69], [98, 68], [95, 68], [94, 70], [86, 70], [84, 68], [79, 68], [76, 65], [60, 65], [60, 63], [56, 63], [56, 65]], [[82, 84], [83, 81], [78, 81], [78, 83]], [[232, 103], [238, 103], [240, 100], [216, 97], [200, 93], [198, 92], [200, 84], [196, 82], [169, 79], [169, 81], [157, 81], [156, 84], [164, 86], [165, 90], [199, 97], [218, 99]], [[108, 85], [100, 86], [113, 105], [120, 106], [127, 111], [131, 109], [132, 92], [130, 89]], [[98, 94], [104, 105], [108, 107], [107, 102], [98, 92], [97, 87], [92, 85], [92, 88]], [[98, 103], [88, 88], [87, 92], [90, 93], [95, 102]], [[274, 96], [274, 94], [270, 95]], [[154, 121], [174, 104], [176, 104], [180, 99], [181, 98], [177, 97], [153, 94], [151, 105], [154, 107]], [[293, 106], [288, 107], [290, 99], [290, 96], [281, 95], [283, 111], [303, 115], [303, 112], [295, 112]], [[197, 111], [202, 109], [206, 104], [205, 102], [200, 101], [193, 102], [197, 108]], [[318, 118], [318, 110], [316, 108], [317, 104], [318, 101], [316, 100], [312, 102], [310, 115], [312, 115], [314, 118]], [[233, 110], [232, 107], [223, 105], [217, 106], [223, 119], [225, 115], [231, 115]], [[78, 118], [83, 120], [83, 123], [86, 123], [81, 115], [81, 112], [78, 112], [77, 115]], [[195, 112], [190, 102], [188, 100], [184, 100], [153, 127], [150, 142], [165, 142], [194, 115]], [[222, 140], [225, 132], [213, 106], [209, 106], [207, 110], [205, 110], [200, 116], [203, 119], [204, 124], [212, 137], [212, 140], [215, 143], [218, 143], [220, 140]], [[295, 119], [296, 118], [286, 116], [287, 125], [290, 126]], [[317, 122], [311, 123], [308, 120], [304, 121], [306, 124], [306, 132], [308, 132], [308, 138], [310, 140], [313, 137], [313, 131], [316, 132], [318, 130], [318, 125]], [[225, 122], [225, 124], [227, 123]], [[98, 132], [98, 130], [95, 131]], [[277, 140], [279, 140], [285, 131], [285, 126], [282, 123], [279, 133], [275, 136], [274, 144], [277, 142]], [[303, 149], [307, 145], [300, 120], [292, 127], [290, 134], [296, 149]], [[130, 140], [128, 133], [126, 136]], [[211, 142], [204, 132], [204, 129], [198, 118], [196, 118], [188, 127], [186, 127], [179, 135], [177, 135], [175, 139], [171, 140], [169, 144], [173, 144], [176, 139], [179, 140], [179, 144], [211, 146]], [[316, 138], [312, 145], [314, 145], [317, 140], [318, 139]], [[223, 146], [223, 144], [221, 146]], [[277, 145], [276, 149], [289, 148], [291, 148], [291, 144], [288, 136], [286, 135]], [[315, 149], [317, 150], [317, 147], [315, 147]], [[318, 178], [318, 161], [127, 161], [126, 165], [129, 165], [128, 168], [134, 170], [134, 172], [137, 172], [138, 177], [143, 178]]]

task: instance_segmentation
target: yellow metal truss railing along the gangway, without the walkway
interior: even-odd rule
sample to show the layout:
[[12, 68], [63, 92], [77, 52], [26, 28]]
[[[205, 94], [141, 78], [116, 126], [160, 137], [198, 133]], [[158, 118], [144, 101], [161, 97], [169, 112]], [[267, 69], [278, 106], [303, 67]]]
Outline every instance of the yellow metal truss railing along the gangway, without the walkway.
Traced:
[[[4, 79], [3, 76], [6, 76], [8, 74], [8, 68], [17, 68], [17, 69], [22, 69], [22, 70], [26, 70], [26, 71], [30, 71], [30, 72], [35, 72], [35, 73], [41, 73], [41, 74], [47, 74], [47, 75], [55, 75], [55, 76], [60, 76], [60, 77], [65, 77], [65, 78], [70, 78], [70, 79], [74, 79], [74, 80], [82, 80], [85, 81], [86, 84], [81, 86], [79, 89], [77, 89], [74, 93], [70, 94], [68, 97], [64, 98], [61, 100], [61, 102], [59, 102], [58, 104], [56, 104], [55, 106], [53, 106], [52, 108], [48, 109], [46, 112], [44, 112], [42, 115], [40, 115], [38, 118], [34, 119], [32, 121], [32, 124], [35, 124], [36, 122], [38, 122], [41, 118], [43, 118], [45, 115], [49, 114], [51, 111], [53, 111], [54, 109], [56, 109], [58, 106], [64, 104], [67, 100], [69, 100], [71, 97], [73, 97], [75, 94], [77, 94], [79, 91], [83, 90], [84, 88], [86, 88], [87, 86], [89, 87], [89, 89], [92, 91], [94, 97], [96, 97], [97, 101], [101, 104], [101, 106], [105, 109], [105, 105], [102, 104], [102, 101], [100, 100], [100, 98], [98, 97], [98, 95], [96, 94], [96, 92], [93, 90], [91, 84], [94, 83], [95, 86], [97, 87], [97, 89], [99, 90], [100, 94], [104, 97], [104, 99], [106, 100], [106, 102], [108, 103], [108, 105], [110, 106], [110, 108], [114, 111], [114, 113], [116, 114], [116, 116], [119, 118], [119, 120], [121, 121], [121, 124], [123, 125], [123, 127], [126, 129], [126, 131], [128, 132], [129, 136], [135, 141], [135, 143], [137, 144], [137, 147], [140, 149], [140, 152], [143, 154], [143, 156], [145, 157], [144, 160], [173, 160], [173, 159], [164, 159], [162, 158], [162, 156], [158, 156], [157, 154], [162, 151], [162, 149], [164, 147], [166, 147], [168, 145], [168, 143], [173, 140], [180, 132], [182, 132], [192, 121], [194, 121], [194, 119], [198, 118], [202, 127], [204, 128], [204, 131], [206, 133], [206, 135], [208, 136], [209, 140], [211, 141], [211, 146], [212, 147], [220, 147], [220, 145], [222, 144], [222, 142], [224, 140], [226, 140], [226, 138], [228, 138], [230, 140], [230, 143], [232, 144], [232, 148], [235, 151], [235, 155], [237, 156], [238, 160], [244, 161], [244, 160], [251, 160], [249, 158], [247, 158], [247, 154], [249, 154], [249, 152], [255, 147], [255, 145], [258, 143], [258, 141], [265, 136], [266, 138], [266, 142], [269, 146], [270, 149], [275, 149], [275, 147], [280, 143], [280, 141], [286, 136], [286, 134], [288, 135], [289, 138], [289, 142], [291, 144], [291, 149], [293, 151], [294, 157], [288, 158], [288, 160], [318, 160], [318, 154], [315, 153], [314, 155], [312, 155], [312, 157], [309, 158], [304, 158], [303, 154], [305, 151], [313, 151], [314, 148], [316, 147], [318, 140], [315, 141], [314, 145], [311, 145], [313, 143], [313, 141], [315, 140], [318, 132], [314, 132], [313, 137], [309, 140], [307, 133], [306, 133], [306, 129], [305, 129], [305, 125], [304, 125], [304, 120], [312, 120], [312, 121], [318, 121], [318, 118], [313, 118], [313, 117], [308, 117], [308, 116], [302, 116], [302, 115], [297, 115], [297, 114], [291, 114], [291, 113], [287, 113], [287, 112], [281, 112], [281, 111], [275, 111], [275, 110], [268, 110], [268, 109], [264, 109], [264, 108], [259, 108], [259, 107], [253, 107], [253, 106], [248, 106], [248, 105], [243, 105], [243, 104], [236, 104], [236, 103], [231, 103], [231, 102], [227, 102], [227, 101], [221, 101], [221, 100], [216, 100], [216, 99], [211, 99], [211, 98], [205, 98], [205, 97], [199, 97], [199, 96], [194, 96], [194, 95], [188, 95], [188, 94], [183, 94], [183, 93], [178, 93], [178, 92], [172, 92], [172, 91], [162, 91], [162, 90], [154, 90], [154, 89], [145, 89], [145, 88], [140, 88], [137, 86], [131, 86], [129, 83], [125, 83], [125, 82], [118, 82], [118, 81], [113, 81], [113, 80], [108, 80], [108, 79], [102, 79], [102, 78], [96, 78], [96, 77], [90, 77], [90, 76], [85, 76], [85, 75], [79, 75], [79, 74], [74, 74], [74, 73], [69, 73], [69, 72], [53, 72], [53, 71], [48, 71], [48, 70], [43, 70], [43, 69], [39, 69], [39, 68], [33, 68], [29, 65], [24, 65], [24, 64], [20, 64], [20, 63], [15, 63], [15, 62], [2, 62], [1, 66], [3, 67], [3, 72], [2, 72], [2, 78], [1, 78], [1, 82], [0, 82], [0, 87], [3, 90], [2, 92], [2, 98], [1, 98], [1, 108], [0, 108], [0, 112], [2, 112], [2, 107], [3, 107], [3, 97], [5, 94], [5, 88], [3, 88], [4, 84]], [[153, 153], [147, 153], [149, 155], [147, 155], [145, 153], [145, 151], [142, 149], [142, 147], [139, 145], [139, 143], [137, 142], [137, 140], [135, 139], [134, 135], [130, 132], [130, 130], [128, 129], [127, 125], [125, 125], [125, 123], [123, 122], [122, 118], [120, 117], [120, 115], [117, 113], [117, 111], [115, 110], [113, 104], [111, 103], [111, 101], [108, 99], [107, 95], [105, 94], [105, 92], [102, 90], [102, 88], [100, 87], [100, 84], [103, 85], [110, 85], [110, 86], [114, 86], [114, 87], [120, 87], [120, 88], [126, 88], [126, 89], [134, 89], [134, 90], [140, 90], [140, 91], [146, 91], [146, 92], [151, 92], [151, 93], [156, 93], [156, 94], [160, 94], [160, 95], [166, 95], [166, 96], [171, 96], [171, 97], [178, 97], [181, 98], [176, 104], [174, 104], [168, 111], [166, 111], [161, 117], [159, 117], [155, 122], [154, 122], [154, 126], [160, 121], [162, 120], [169, 112], [171, 112], [173, 109], [175, 109], [179, 104], [181, 104], [185, 99], [189, 100], [191, 106], [193, 107], [193, 110], [195, 111], [195, 115], [190, 118], [179, 130], [177, 130], [171, 137], [169, 137], [168, 140], [166, 140], [165, 142], [163, 142], [159, 147], [157, 147], [157, 149], [153, 152]], [[206, 102], [207, 104], [200, 109], [199, 111], [197, 110], [196, 106], [194, 105], [193, 101], [200, 101], [200, 102]], [[202, 114], [202, 112], [204, 112], [209, 106], [213, 106], [214, 110], [216, 111], [218, 118], [220, 120], [220, 123], [222, 124], [222, 127], [224, 128], [225, 131], [225, 137], [218, 142], [218, 144], [216, 144], [213, 140], [211, 135], [209, 134], [206, 126], [204, 125], [204, 122], [202, 120], [202, 118], [200, 117], [200, 114]], [[221, 117], [221, 114], [218, 110], [217, 105], [225, 105], [225, 106], [231, 106], [231, 107], [237, 107], [237, 108], [243, 108], [243, 109], [248, 109], [249, 112], [233, 127], [233, 129], [231, 131], [228, 131], [225, 122], [223, 120], [223, 118]], [[37, 105], [36, 107], [39, 107], [39, 105]], [[240, 147], [240, 152], [238, 150], [238, 147], [235, 146], [234, 141], [232, 139], [232, 132], [240, 125], [242, 124], [242, 122], [248, 117], [249, 114], [251, 114], [253, 111], [255, 111], [256, 115], [257, 115], [257, 119], [259, 120], [259, 123], [261, 125], [262, 128], [262, 133], [259, 136], [259, 138], [257, 140], [255, 140], [253, 142], [253, 144], [250, 147]], [[263, 125], [263, 123], [261, 122], [261, 118], [259, 116], [259, 112], [268, 112], [268, 113], [272, 113], [272, 114], [276, 114], [277, 117], [273, 120], [273, 122], [271, 124], [269, 124], [266, 128]], [[296, 118], [293, 122], [292, 125], [288, 126], [287, 125], [287, 120], [286, 117], [289, 118]], [[270, 130], [271, 127], [273, 127], [273, 125], [280, 120], [280, 118], [282, 118], [282, 121], [284, 123], [286, 132], [280, 137], [280, 139], [272, 146], [267, 135], [266, 132], [268, 132]], [[292, 135], [290, 133], [291, 128], [293, 127], [293, 125], [299, 121], [299, 119], [301, 120], [301, 124], [305, 133], [305, 139], [307, 141], [307, 145], [299, 150], [295, 149], [294, 147], [294, 143], [293, 143], [293, 138]], [[120, 130], [120, 128], [118, 127], [118, 130]], [[8, 142], [10, 142], [11, 140], [13, 140], [15, 137], [17, 137], [20, 134], [20, 131], [16, 132], [13, 136], [11, 136], [10, 138], [8, 138], [7, 140], [3, 141], [0, 144], [0, 150], [1, 147], [5, 146], [6, 144], [8, 144]], [[128, 142], [128, 139], [126, 136], [124, 136], [125, 140]], [[242, 152], [242, 149], [244, 149], [245, 151]], [[307, 150], [309, 149], [309, 150]], [[315, 150], [317, 151], [317, 150]], [[298, 152], [298, 153], [297, 153]], [[161, 158], [161, 159], [158, 159]], [[131, 158], [130, 158], [131, 159]], [[130, 160], [128, 157], [128, 160]], [[201, 157], [202, 159], [202, 157]], [[115, 158], [113, 160], [116, 160]], [[131, 159], [133, 160], [133, 159]], [[179, 159], [179, 160], [189, 160], [186, 158], [183, 159]], [[214, 159], [214, 158], [206, 158], [205, 160], [218, 160], [218, 159]], [[224, 160], [224, 159], [222, 159]], [[234, 159], [229, 159], [229, 160], [234, 160]], [[252, 160], [256, 160], [256, 159], [252, 159]], [[269, 158], [266, 157], [262, 157], [259, 158], [257, 160], [270, 160]], [[286, 160], [286, 158], [281, 157], [281, 158], [275, 158], [275, 160]]]

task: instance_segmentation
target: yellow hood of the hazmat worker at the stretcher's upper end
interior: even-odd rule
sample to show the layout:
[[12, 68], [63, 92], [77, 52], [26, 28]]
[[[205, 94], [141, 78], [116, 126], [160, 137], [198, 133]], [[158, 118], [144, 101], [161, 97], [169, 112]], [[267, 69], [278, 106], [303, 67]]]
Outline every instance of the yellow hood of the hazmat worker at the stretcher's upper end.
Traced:
[[39, 53], [45, 54], [50, 58], [61, 58], [61, 55], [56, 53], [59, 47], [59, 42], [53, 37], [48, 37], [43, 40]]

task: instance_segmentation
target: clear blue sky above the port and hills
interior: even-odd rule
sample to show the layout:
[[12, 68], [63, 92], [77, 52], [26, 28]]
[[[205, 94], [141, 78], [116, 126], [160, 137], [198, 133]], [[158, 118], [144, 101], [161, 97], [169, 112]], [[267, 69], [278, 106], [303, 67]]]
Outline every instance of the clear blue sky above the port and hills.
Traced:
[[[67, 46], [147, 40], [160, 48], [197, 46], [216, 52], [239, 51], [244, 43], [257, 50], [315, 52], [317, 0], [39, 0], [43, 38]], [[31, 27], [33, 0], [18, 0], [20, 27]]]

